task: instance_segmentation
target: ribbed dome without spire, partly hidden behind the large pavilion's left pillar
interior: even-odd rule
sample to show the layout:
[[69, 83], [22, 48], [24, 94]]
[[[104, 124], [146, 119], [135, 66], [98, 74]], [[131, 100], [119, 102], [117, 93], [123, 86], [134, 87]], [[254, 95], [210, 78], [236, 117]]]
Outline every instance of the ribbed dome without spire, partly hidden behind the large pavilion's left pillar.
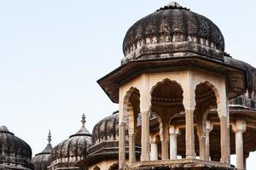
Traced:
[[118, 140], [119, 138], [119, 114], [118, 111], [113, 112], [111, 116], [107, 116], [102, 121], [96, 123], [92, 131], [92, 143], [98, 144], [107, 140]]

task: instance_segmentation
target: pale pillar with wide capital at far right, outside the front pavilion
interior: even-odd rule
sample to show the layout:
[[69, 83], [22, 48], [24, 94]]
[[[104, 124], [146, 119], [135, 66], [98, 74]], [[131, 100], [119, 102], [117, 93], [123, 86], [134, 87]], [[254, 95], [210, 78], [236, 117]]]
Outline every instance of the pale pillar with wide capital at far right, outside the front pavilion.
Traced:
[[246, 122], [237, 120], [236, 124], [232, 125], [232, 130], [236, 133], [236, 168], [244, 169], [244, 155], [243, 155], [243, 139], [242, 133], [246, 132]]

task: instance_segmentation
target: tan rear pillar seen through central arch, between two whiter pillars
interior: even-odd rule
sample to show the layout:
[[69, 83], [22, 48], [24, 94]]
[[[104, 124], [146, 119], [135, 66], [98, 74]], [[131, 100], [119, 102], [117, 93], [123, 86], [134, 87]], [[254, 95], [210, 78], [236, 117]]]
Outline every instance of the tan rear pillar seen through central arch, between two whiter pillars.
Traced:
[[168, 160], [169, 159], [169, 125], [167, 122], [163, 122], [162, 130], [160, 130], [160, 140], [161, 140], [161, 157], [162, 160]]

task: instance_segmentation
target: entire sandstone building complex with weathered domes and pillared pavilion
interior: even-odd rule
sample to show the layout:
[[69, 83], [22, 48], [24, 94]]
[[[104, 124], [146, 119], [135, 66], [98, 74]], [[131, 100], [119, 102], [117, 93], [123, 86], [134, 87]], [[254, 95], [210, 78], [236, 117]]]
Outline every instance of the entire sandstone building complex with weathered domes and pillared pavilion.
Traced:
[[[0, 127], [0, 169], [245, 170], [256, 150], [256, 69], [225, 53], [212, 20], [169, 3], [126, 32], [98, 80], [119, 111], [32, 158]], [[43, 148], [43, 147], [42, 147]], [[230, 164], [236, 155], [236, 165]]]

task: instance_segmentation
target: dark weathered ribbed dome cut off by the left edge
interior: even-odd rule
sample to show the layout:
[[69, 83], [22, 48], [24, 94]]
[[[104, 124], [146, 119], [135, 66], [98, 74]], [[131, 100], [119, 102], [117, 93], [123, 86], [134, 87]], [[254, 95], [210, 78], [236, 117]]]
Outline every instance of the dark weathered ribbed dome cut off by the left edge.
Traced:
[[32, 169], [31, 158], [31, 147], [7, 127], [0, 127], [0, 164], [6, 168]]

